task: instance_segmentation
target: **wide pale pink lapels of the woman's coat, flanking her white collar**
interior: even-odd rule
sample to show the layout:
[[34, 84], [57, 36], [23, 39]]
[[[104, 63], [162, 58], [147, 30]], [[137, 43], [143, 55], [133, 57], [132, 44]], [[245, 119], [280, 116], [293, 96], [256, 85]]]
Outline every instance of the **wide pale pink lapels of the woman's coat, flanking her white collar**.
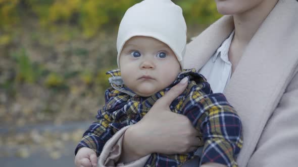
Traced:
[[[237, 158], [239, 166], [247, 165], [266, 122], [278, 105], [297, 66], [296, 11], [298, 3], [294, 0], [277, 3], [247, 45], [225, 89], [224, 94], [237, 110], [243, 124], [244, 144]], [[198, 64], [196, 68], [201, 68], [232, 31], [229, 26], [231, 23], [229, 16], [223, 17], [210, 26], [210, 30], [197, 37], [201, 39], [195, 39], [189, 44], [185, 67]]]

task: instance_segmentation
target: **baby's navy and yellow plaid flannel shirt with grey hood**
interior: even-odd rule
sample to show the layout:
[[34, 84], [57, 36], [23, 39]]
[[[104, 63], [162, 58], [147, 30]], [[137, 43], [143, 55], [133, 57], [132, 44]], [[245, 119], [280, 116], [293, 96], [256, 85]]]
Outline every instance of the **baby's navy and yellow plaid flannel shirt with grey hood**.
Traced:
[[[122, 127], [138, 122], [164, 93], [187, 76], [185, 91], [170, 105], [172, 112], [188, 117], [201, 132], [205, 142], [201, 163], [217, 162], [237, 166], [235, 158], [242, 147], [242, 126], [234, 108], [223, 94], [213, 94], [205, 77], [195, 69], [183, 70], [165, 90], [151, 97], [140, 97], [123, 86], [120, 70], [107, 72], [112, 88], [106, 90], [106, 105], [97, 113], [97, 121], [83, 134], [75, 154], [81, 147], [93, 149], [100, 155], [105, 143]], [[194, 152], [166, 155], [152, 153], [145, 166], [180, 166], [191, 159]]]

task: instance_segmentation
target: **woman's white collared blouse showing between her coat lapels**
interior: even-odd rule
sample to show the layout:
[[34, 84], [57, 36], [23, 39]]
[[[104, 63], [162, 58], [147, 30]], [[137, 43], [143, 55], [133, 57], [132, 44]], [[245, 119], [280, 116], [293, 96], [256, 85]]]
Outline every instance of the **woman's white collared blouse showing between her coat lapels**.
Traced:
[[230, 36], [216, 50], [214, 55], [198, 71], [206, 77], [213, 93], [223, 93], [230, 80], [232, 63], [229, 61], [228, 53], [234, 37], [234, 32], [235, 31], [230, 34]]

